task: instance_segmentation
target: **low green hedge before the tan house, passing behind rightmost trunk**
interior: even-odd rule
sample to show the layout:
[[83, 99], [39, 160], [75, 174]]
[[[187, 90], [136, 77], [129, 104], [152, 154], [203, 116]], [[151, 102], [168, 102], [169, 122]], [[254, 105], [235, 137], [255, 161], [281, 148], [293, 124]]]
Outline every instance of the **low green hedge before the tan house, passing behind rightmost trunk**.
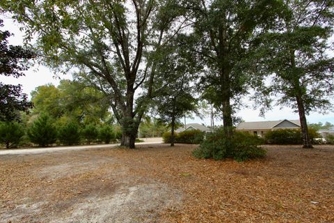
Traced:
[[[309, 128], [310, 140], [314, 141], [319, 138], [319, 134], [316, 130]], [[278, 144], [278, 145], [294, 145], [303, 144], [303, 137], [301, 130], [296, 129], [281, 129], [267, 132], [264, 137], [267, 144]]]

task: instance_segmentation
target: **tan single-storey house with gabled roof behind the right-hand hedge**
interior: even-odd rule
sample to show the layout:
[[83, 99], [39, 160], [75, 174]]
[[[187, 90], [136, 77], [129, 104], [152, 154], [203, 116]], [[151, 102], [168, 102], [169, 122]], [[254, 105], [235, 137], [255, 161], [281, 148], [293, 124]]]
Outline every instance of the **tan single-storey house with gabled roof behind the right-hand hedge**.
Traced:
[[259, 137], [272, 130], [280, 129], [299, 129], [301, 124], [299, 120], [278, 120], [278, 121], [253, 121], [239, 123], [237, 131], [249, 132], [250, 134], [256, 134]]

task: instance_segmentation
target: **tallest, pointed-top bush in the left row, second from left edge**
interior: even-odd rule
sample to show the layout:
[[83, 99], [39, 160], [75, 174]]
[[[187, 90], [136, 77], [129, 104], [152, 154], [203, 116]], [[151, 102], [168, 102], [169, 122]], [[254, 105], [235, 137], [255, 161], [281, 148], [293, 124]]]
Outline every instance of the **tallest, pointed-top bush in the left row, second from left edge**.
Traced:
[[56, 141], [57, 131], [49, 115], [41, 114], [33, 122], [28, 130], [28, 136], [31, 142], [38, 146], [49, 146]]

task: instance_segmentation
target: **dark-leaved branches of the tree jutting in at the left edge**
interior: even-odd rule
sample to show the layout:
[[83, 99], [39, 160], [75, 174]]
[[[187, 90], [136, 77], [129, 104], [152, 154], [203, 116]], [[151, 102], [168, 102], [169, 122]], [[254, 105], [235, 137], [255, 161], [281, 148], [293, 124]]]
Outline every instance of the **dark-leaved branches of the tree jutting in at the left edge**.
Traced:
[[[0, 27], [3, 20], [0, 19]], [[9, 31], [0, 31], [0, 75], [15, 78], [24, 75], [27, 61], [34, 54], [21, 46], [8, 45]], [[0, 82], [0, 120], [13, 121], [18, 118], [18, 111], [28, 112], [32, 103], [26, 94], [22, 93], [21, 85], [3, 84]]]

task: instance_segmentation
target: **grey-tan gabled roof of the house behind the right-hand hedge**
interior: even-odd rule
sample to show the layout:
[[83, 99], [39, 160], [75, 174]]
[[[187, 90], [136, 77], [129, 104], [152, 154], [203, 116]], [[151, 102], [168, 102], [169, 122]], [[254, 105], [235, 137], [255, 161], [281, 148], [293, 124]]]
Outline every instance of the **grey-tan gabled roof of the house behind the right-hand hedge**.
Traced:
[[272, 128], [299, 128], [299, 120], [251, 121], [239, 123], [237, 130], [268, 130]]

